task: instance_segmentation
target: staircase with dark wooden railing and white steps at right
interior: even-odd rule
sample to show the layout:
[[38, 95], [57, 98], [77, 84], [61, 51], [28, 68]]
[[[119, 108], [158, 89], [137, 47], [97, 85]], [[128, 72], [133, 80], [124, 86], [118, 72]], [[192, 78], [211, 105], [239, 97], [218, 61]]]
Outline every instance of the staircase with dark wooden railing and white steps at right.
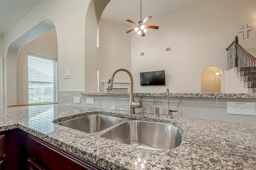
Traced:
[[228, 70], [224, 71], [226, 93], [256, 93], [256, 58], [238, 44], [237, 36], [226, 51], [228, 56]]

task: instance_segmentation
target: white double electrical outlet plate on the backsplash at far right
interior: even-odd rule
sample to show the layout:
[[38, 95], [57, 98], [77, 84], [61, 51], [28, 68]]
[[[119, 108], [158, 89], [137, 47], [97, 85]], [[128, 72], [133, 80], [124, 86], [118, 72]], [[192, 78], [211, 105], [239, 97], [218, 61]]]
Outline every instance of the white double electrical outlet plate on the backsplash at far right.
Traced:
[[254, 102], [228, 102], [227, 113], [236, 115], [256, 116], [256, 103]]

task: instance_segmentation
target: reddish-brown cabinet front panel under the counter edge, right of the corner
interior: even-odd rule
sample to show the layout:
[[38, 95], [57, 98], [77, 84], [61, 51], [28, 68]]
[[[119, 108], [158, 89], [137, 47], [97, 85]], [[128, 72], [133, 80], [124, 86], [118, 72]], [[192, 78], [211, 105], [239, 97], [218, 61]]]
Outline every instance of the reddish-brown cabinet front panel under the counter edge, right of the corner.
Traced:
[[[78, 156], [28, 134], [28, 157], [50, 170], [103, 170]], [[33, 169], [32, 169], [33, 170]]]

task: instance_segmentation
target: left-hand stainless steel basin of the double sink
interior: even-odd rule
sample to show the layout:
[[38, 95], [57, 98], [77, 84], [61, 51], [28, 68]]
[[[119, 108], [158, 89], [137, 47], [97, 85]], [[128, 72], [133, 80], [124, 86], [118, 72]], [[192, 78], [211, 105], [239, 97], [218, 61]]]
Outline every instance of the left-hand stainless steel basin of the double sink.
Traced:
[[108, 115], [87, 115], [75, 119], [62, 121], [57, 124], [87, 133], [95, 133], [113, 125], [116, 125], [121, 121], [122, 119], [120, 117]]

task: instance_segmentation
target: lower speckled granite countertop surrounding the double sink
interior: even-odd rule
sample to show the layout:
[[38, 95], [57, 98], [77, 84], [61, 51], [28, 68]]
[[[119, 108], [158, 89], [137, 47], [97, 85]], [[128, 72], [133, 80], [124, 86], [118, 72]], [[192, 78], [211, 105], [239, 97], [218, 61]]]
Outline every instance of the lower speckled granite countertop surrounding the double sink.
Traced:
[[[148, 150], [52, 123], [89, 114], [170, 123], [183, 129], [183, 140], [175, 149]], [[14, 128], [106, 169], [256, 169], [256, 124], [156, 118], [147, 113], [129, 115], [127, 111], [61, 104], [0, 109], [0, 131]]]

